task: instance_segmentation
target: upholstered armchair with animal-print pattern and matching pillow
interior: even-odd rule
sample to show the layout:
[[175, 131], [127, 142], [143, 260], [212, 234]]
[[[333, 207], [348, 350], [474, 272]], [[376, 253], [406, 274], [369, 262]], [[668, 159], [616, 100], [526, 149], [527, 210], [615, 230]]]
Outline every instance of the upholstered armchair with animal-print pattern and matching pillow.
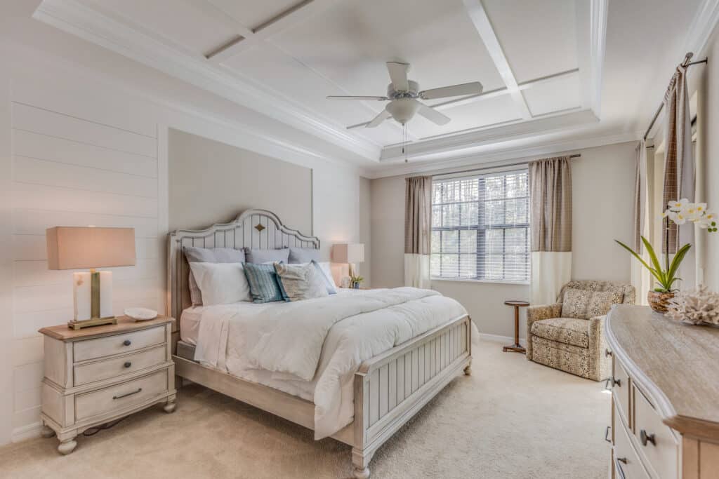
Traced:
[[[567, 295], [569, 302], [564, 304], [567, 289], [572, 291]], [[604, 320], [611, 304], [634, 304], [634, 300], [631, 284], [606, 281], [565, 284], [557, 304], [527, 308], [527, 360], [594, 381], [608, 378], [611, 363], [605, 355]]]

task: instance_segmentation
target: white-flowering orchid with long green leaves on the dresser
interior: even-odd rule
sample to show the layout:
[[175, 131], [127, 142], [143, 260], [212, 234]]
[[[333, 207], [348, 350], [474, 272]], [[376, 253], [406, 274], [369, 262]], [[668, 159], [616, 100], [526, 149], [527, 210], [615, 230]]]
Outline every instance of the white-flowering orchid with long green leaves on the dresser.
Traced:
[[[708, 233], [717, 231], [717, 215], [710, 210], [707, 210], [706, 203], [690, 203], [686, 198], [682, 198], [678, 201], [670, 201], [666, 211], [661, 215], [661, 218], [668, 218], [676, 225], [683, 225], [687, 222], [694, 223], [702, 229], [707, 230]], [[656, 279], [659, 287], [656, 287], [656, 292], [671, 292], [672, 287], [677, 280], [677, 271], [679, 271], [679, 264], [682, 263], [684, 256], [687, 256], [687, 252], [692, 247], [689, 243], [685, 244], [677, 250], [677, 254], [674, 254], [672, 262], [669, 263], [669, 255], [665, 255], [665, 267], [661, 267], [659, 258], [654, 252], [649, 241], [644, 236], [641, 236], [641, 241], [644, 243], [647, 254], [649, 254], [649, 260], [651, 266], [642, 259], [641, 255], [634, 251], [632, 248], [622, 243], [621, 241], [615, 240], [624, 249], [629, 251], [638, 261], [649, 270], [652, 276]], [[667, 225], [667, 243], [669, 242], [669, 225]]]

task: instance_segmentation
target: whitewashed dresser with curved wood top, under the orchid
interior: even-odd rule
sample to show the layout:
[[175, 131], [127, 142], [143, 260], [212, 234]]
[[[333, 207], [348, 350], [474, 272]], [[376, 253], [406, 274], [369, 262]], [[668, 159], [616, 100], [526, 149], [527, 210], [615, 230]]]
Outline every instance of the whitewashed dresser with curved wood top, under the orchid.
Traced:
[[719, 328], [618, 304], [605, 336], [610, 477], [719, 479]]

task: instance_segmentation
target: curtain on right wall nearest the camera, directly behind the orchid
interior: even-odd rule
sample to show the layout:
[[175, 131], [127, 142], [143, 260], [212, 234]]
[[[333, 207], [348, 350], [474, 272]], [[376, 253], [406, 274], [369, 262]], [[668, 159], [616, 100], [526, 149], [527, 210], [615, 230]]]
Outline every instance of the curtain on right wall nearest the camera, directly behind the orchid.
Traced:
[[[664, 95], [666, 112], [664, 141], [664, 191], [662, 210], [672, 200], [687, 198], [694, 201], [695, 165], [692, 157], [692, 118], [689, 111], [689, 90], [687, 88], [687, 69], [679, 65]], [[664, 228], [669, 233], [662, 235], [662, 252], [675, 254], [677, 248], [686, 243], [694, 244], [694, 225], [678, 227], [672, 221], [664, 220]], [[693, 248], [679, 267], [682, 288], [690, 288], [695, 283], [695, 254]]]

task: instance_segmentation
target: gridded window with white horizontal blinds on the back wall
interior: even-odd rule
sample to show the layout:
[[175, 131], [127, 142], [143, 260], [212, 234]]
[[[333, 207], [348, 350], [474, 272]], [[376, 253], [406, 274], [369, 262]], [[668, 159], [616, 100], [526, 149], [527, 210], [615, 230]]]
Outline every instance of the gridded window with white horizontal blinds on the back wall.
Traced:
[[528, 172], [434, 180], [431, 276], [529, 281]]

